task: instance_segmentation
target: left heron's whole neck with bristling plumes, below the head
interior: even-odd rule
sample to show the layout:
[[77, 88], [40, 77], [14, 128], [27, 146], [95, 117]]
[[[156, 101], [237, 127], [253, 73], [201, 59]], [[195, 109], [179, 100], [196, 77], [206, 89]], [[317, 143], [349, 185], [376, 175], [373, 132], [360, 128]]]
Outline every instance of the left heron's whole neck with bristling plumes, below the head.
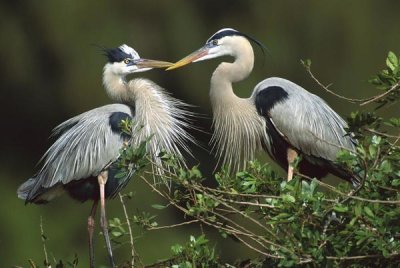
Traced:
[[148, 79], [137, 78], [126, 81], [125, 77], [104, 71], [103, 83], [111, 99], [134, 107], [133, 144], [152, 137], [147, 143], [152, 158], [153, 170], [163, 173], [158, 157], [162, 150], [173, 154], [185, 165], [180, 148], [190, 153], [187, 141], [195, 142], [186, 132], [189, 128], [187, 117], [192, 114], [185, 110], [185, 103], [172, 98], [163, 88]]

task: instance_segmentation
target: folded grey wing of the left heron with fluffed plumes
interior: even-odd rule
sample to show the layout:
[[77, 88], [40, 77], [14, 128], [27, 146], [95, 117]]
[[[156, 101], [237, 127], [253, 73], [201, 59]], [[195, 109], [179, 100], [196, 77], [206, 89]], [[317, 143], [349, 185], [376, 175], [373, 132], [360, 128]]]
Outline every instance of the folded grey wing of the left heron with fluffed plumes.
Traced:
[[43, 167], [27, 181], [29, 196], [40, 188], [97, 176], [116, 160], [124, 137], [118, 131], [121, 119], [131, 118], [127, 105], [105, 105], [73, 117], [54, 129], [58, 139], [42, 158]]

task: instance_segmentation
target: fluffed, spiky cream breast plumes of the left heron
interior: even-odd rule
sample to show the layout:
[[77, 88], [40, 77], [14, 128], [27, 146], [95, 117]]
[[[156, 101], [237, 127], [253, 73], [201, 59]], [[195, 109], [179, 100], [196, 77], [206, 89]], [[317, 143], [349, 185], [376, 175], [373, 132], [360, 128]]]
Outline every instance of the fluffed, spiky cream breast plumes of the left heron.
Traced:
[[154, 163], [157, 163], [158, 168], [154, 166], [157, 173], [161, 174], [159, 167], [163, 164], [157, 157], [161, 150], [181, 158], [179, 147], [188, 150], [185, 141], [193, 140], [184, 129], [189, 127], [185, 118], [190, 112], [183, 109], [185, 105], [182, 102], [148, 79], [132, 79], [128, 88], [135, 101], [134, 142], [139, 144], [152, 137], [147, 147]]

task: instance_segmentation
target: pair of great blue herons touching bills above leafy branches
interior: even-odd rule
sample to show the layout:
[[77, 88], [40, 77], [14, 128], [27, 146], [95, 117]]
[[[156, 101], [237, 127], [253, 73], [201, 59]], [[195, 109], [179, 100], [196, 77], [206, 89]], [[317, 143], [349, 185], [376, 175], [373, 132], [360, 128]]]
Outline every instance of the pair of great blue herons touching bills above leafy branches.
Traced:
[[[248, 35], [225, 28], [175, 64], [142, 59], [126, 45], [105, 49], [108, 62], [103, 84], [116, 103], [95, 108], [56, 127], [54, 135], [58, 138], [43, 156], [42, 168], [19, 187], [18, 197], [27, 203], [45, 203], [68, 192], [80, 201], [94, 200], [88, 218], [91, 267], [94, 216], [100, 201], [100, 223], [114, 267], [105, 199], [114, 197], [131, 177], [115, 178], [120, 148], [128, 141], [139, 144], [153, 135], [147, 151], [155, 165], [162, 165], [157, 157], [161, 150], [182, 159], [182, 150], [189, 151], [188, 143], [195, 142], [187, 132], [193, 116], [188, 105], [148, 79], [128, 81], [126, 76], [152, 68], [171, 70], [226, 55], [234, 61], [222, 62], [210, 85], [214, 127], [211, 143], [224, 165], [238, 170], [254, 158], [257, 150], [264, 149], [287, 169], [288, 180], [293, 177], [293, 162], [301, 155], [301, 173], [317, 178], [333, 173], [358, 184], [356, 175], [335, 163], [340, 149], [354, 150], [355, 143], [345, 131], [346, 122], [321, 98], [282, 78], [263, 80], [249, 98], [234, 94], [232, 83], [245, 79], [253, 69], [252, 41], [258, 43]], [[133, 119], [132, 128], [138, 130], [133, 137], [123, 134], [122, 119]]]

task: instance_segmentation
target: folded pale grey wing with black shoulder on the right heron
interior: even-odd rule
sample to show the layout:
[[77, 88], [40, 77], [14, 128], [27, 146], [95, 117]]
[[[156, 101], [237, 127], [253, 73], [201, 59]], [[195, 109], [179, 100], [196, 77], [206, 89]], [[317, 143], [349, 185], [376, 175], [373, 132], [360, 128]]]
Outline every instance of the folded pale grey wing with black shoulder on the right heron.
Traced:
[[258, 112], [304, 154], [333, 161], [340, 149], [354, 149], [346, 122], [324, 100], [289, 80], [265, 79], [251, 98]]

